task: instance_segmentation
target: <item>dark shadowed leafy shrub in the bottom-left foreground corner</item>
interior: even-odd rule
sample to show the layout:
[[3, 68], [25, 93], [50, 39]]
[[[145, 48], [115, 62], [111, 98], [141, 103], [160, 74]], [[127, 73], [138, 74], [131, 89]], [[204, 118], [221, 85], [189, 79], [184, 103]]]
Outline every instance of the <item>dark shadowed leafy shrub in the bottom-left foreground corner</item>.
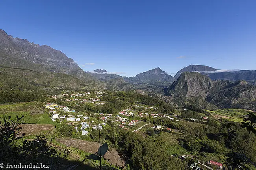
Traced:
[[0, 162], [14, 165], [46, 163], [53, 170], [63, 166], [62, 161], [67, 160], [70, 151], [67, 148], [57, 149], [49, 142], [52, 139], [41, 135], [24, 140], [26, 134], [21, 133], [23, 117], [0, 117]]

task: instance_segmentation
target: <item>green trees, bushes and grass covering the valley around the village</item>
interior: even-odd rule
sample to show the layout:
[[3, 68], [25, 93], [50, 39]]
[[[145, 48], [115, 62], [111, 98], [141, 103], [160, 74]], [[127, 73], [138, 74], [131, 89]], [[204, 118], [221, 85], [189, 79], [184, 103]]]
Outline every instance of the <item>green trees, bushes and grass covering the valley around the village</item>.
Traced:
[[[105, 102], [104, 105], [89, 103], [76, 106], [72, 102], [67, 105], [67, 103], [60, 99], [49, 98], [49, 100], [74, 108], [80, 112], [79, 114], [84, 112], [117, 113], [127, 106], [132, 107], [133, 104], [154, 106], [158, 108], [158, 112], [165, 114], [178, 112], [161, 100], [134, 92], [109, 92], [108, 95], [102, 96], [102, 101]], [[25, 140], [24, 137], [26, 135], [19, 133], [21, 130], [19, 125], [22, 121], [26, 120], [26, 116], [30, 117], [29, 120], [35, 121], [29, 123], [38, 124], [41, 122], [49, 124], [45, 121], [49, 117], [42, 116], [47, 115], [47, 113], [33, 114], [20, 109], [27, 108], [30, 110], [33, 104], [36, 105], [33, 106], [35, 110], [37, 107], [43, 106], [41, 102], [1, 106], [2, 112], [6, 114], [2, 116], [1, 122], [0, 151], [7, 153], [7, 156], [1, 157], [1, 160], [3, 162], [8, 162], [8, 160], [15, 161], [11, 163], [45, 162], [51, 164], [52, 169], [58, 169], [59, 167], [67, 169], [73, 165], [73, 168], [76, 165], [80, 165], [81, 162], [72, 162], [68, 159], [68, 150], [65, 150], [65, 148], [55, 148], [55, 144], [52, 142], [56, 138], [56, 135], [50, 135], [47, 137], [48, 139], [38, 136], [35, 139]], [[126, 165], [129, 165], [130, 169], [133, 170], [184, 170], [195, 162], [204, 163], [209, 160], [219, 161], [230, 170], [255, 169], [256, 116], [254, 113], [247, 113], [247, 117], [243, 119], [243, 122], [231, 122], [226, 119], [215, 119], [209, 112], [204, 110], [197, 108], [190, 109], [193, 111], [183, 110], [177, 116], [177, 121], [161, 118], [153, 119], [150, 116], [141, 117], [141, 121], [150, 122], [152, 125], [165, 126], [171, 129], [169, 131], [161, 129], [157, 131], [151, 127], [144, 127], [141, 129], [141, 133], [133, 133], [131, 130], [124, 130], [116, 126], [113, 122], [107, 121], [107, 126], [100, 130], [100, 133], [95, 129], [88, 136], [81, 137], [81, 135], [74, 131], [72, 125], [70, 126], [67, 122], [63, 121], [53, 123], [56, 125], [53, 134], [56, 133], [61, 137], [65, 136], [100, 142], [101, 145], [107, 143], [108, 146], [115, 148], [122, 155], [126, 161]], [[22, 119], [15, 116], [19, 112], [24, 114]], [[207, 116], [208, 119], [199, 121], [199, 119], [202, 119], [202, 116]], [[43, 121], [40, 117], [42, 117]], [[96, 118], [97, 115], [92, 115], [93, 120], [96, 120]], [[186, 121], [185, 119], [188, 118], [194, 118], [198, 121]], [[99, 157], [103, 156], [96, 155]], [[182, 160], [178, 158], [180, 155], [186, 155], [187, 158]], [[107, 161], [104, 160], [104, 157], [100, 160], [98, 160], [98, 157], [96, 157], [96, 160], [92, 160], [96, 161], [95, 165], [97, 166], [90, 166], [89, 169], [102, 168], [98, 166], [101, 165], [99, 161]], [[106, 164], [106, 166], [110, 165]], [[118, 167], [116, 166], [115, 168]], [[215, 166], [212, 168], [217, 169]]]

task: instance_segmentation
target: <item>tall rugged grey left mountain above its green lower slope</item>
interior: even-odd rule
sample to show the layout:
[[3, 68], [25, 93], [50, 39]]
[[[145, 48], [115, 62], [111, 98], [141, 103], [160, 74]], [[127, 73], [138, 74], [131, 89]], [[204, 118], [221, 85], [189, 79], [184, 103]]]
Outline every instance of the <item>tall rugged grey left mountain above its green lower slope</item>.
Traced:
[[13, 38], [0, 29], [0, 65], [33, 69], [43, 73], [65, 73], [84, 80], [95, 80], [85, 73], [72, 58], [49, 46]]

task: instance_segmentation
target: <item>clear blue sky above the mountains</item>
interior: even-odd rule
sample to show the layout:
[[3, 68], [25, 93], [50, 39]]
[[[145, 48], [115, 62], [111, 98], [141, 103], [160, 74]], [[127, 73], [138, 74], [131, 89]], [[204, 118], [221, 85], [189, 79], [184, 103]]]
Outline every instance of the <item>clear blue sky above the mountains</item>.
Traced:
[[2, 0], [0, 21], [85, 71], [256, 69], [256, 0]]

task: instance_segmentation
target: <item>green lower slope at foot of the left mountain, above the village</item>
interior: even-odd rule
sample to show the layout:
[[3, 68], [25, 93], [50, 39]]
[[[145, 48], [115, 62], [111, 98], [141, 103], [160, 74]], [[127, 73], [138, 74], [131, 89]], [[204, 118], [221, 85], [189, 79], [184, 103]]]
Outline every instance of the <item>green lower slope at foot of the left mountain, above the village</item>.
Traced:
[[37, 71], [0, 67], [0, 90], [51, 90], [57, 87], [65, 89], [97, 89], [102, 84], [85, 81], [65, 73], [39, 73]]

